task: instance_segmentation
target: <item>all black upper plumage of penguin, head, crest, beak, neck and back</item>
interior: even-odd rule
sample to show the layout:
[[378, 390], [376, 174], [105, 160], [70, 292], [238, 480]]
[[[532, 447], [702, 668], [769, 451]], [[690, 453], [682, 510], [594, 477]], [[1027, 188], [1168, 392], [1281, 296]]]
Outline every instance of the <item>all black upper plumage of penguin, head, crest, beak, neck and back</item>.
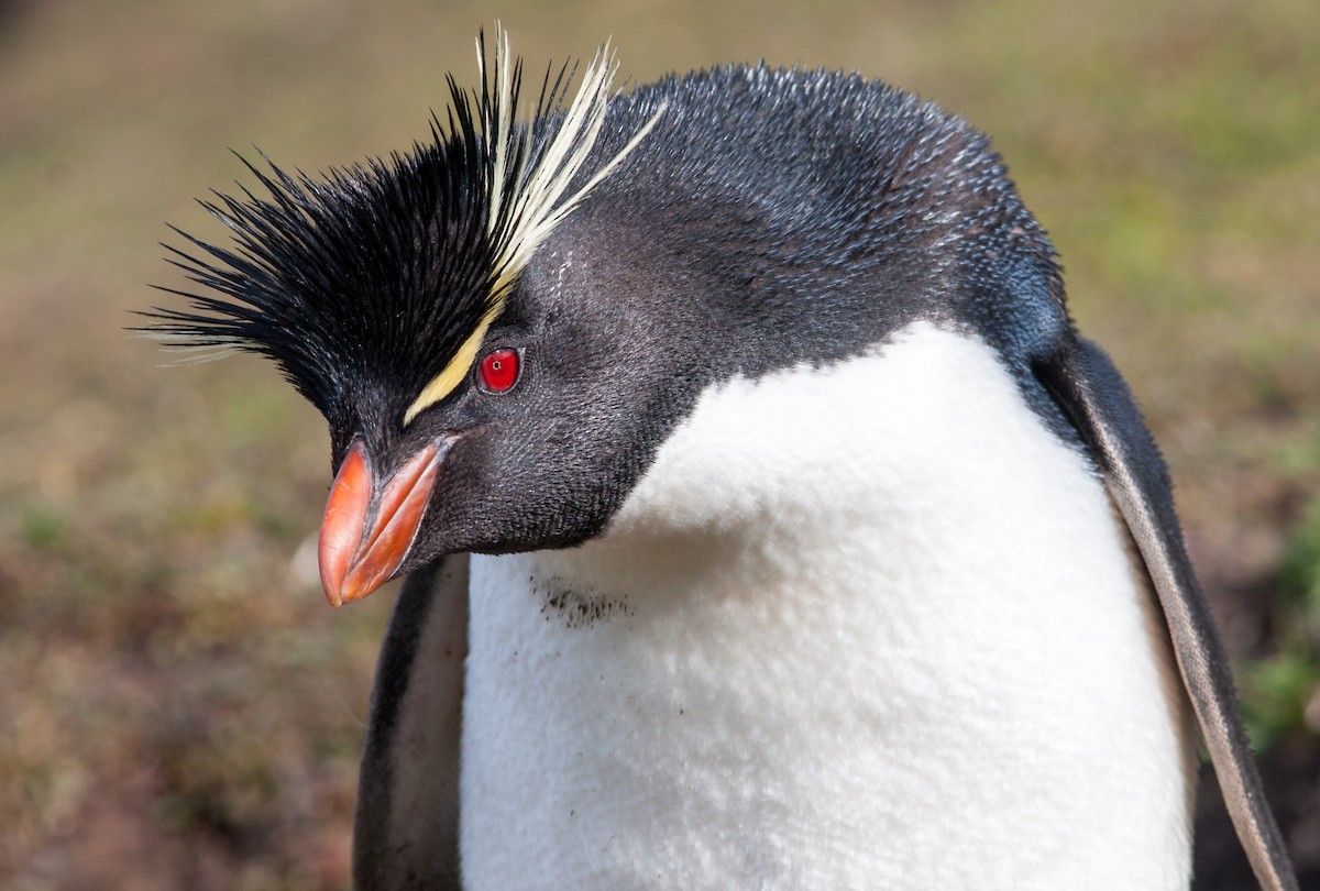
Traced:
[[153, 313], [174, 345], [268, 356], [325, 414], [331, 603], [447, 553], [595, 537], [713, 383], [913, 319], [982, 334], [1057, 414], [1031, 372], [1068, 325], [1052, 248], [960, 120], [764, 66], [669, 78], [607, 119], [606, 48], [572, 102], [561, 70], [515, 123], [503, 34], [478, 58], [482, 86], [450, 81], [447, 125], [407, 156], [249, 165], [264, 197], [206, 205], [235, 246], [177, 252], [206, 293]]

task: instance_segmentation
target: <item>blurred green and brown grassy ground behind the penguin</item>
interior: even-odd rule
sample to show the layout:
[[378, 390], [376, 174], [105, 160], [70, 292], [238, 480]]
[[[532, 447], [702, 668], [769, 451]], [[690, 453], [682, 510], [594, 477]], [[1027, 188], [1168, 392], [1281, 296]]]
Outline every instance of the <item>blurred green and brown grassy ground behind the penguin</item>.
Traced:
[[[1163, 444], [1304, 883], [1320, 888], [1313, 0], [0, 1], [0, 886], [345, 888], [392, 591], [326, 607], [321, 418], [124, 327], [166, 222], [405, 149], [500, 18], [535, 73], [858, 70], [990, 132]], [[174, 239], [177, 242], [177, 239]], [[1203, 783], [1197, 888], [1250, 887]], [[1115, 853], [1121, 855], [1121, 853]]]

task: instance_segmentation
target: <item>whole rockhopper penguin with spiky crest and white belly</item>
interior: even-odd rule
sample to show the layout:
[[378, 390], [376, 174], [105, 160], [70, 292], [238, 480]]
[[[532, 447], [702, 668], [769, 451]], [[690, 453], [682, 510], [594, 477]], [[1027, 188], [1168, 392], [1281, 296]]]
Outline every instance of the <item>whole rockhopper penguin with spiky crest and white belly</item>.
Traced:
[[987, 137], [762, 65], [478, 37], [428, 141], [205, 206], [177, 347], [325, 416], [403, 577], [359, 888], [1187, 888], [1199, 741], [1296, 888], [1170, 480]]

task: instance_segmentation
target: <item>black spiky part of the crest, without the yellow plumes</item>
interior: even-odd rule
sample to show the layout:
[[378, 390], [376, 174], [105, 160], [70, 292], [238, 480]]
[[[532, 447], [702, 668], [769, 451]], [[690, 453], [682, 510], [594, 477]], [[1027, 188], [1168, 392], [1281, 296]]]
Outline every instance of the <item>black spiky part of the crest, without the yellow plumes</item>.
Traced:
[[264, 354], [327, 417], [383, 381], [418, 391], [484, 313], [495, 263], [482, 141], [470, 116], [458, 120], [407, 157], [322, 180], [248, 164], [267, 198], [203, 202], [235, 247], [180, 232], [195, 251], [169, 248], [215, 293], [174, 292], [190, 309], [157, 309], [152, 330]]

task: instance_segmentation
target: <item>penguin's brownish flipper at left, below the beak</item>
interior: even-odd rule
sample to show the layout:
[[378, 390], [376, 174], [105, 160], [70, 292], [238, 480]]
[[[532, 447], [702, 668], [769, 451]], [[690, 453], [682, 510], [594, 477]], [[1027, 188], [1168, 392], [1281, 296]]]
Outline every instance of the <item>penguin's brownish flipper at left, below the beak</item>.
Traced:
[[376, 664], [352, 826], [354, 887], [459, 888], [467, 554], [404, 579]]

